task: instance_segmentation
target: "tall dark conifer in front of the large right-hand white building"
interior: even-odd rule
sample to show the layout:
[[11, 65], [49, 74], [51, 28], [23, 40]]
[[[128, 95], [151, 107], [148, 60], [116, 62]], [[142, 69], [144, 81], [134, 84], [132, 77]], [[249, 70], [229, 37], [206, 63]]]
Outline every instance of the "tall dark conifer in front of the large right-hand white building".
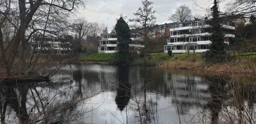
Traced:
[[218, 10], [218, 2], [214, 0], [214, 6], [212, 10], [212, 19], [209, 21], [210, 32], [211, 32], [211, 45], [209, 46], [209, 51], [207, 51], [206, 59], [211, 63], [218, 63], [224, 61], [227, 52], [225, 43], [223, 29], [221, 29], [221, 18], [220, 11]]

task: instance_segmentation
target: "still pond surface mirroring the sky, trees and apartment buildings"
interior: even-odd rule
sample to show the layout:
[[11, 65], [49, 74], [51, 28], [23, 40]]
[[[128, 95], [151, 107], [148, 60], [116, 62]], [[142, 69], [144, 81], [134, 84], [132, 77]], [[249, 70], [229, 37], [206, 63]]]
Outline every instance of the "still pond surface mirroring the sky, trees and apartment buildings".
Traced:
[[154, 67], [69, 65], [51, 80], [1, 84], [1, 123], [255, 122], [256, 90], [230, 85], [230, 79]]

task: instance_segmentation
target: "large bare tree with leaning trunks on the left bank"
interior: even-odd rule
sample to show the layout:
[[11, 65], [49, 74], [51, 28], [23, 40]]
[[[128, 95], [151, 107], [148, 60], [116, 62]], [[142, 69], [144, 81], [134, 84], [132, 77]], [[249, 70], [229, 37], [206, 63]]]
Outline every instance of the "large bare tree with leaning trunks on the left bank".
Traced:
[[[58, 35], [67, 29], [67, 17], [76, 6], [83, 4], [81, 0], [4, 0], [0, 2], [0, 22], [5, 22], [12, 26], [13, 35], [6, 45], [1, 45], [1, 65], [3, 63], [6, 74], [22, 74], [24, 76], [31, 72], [28, 63], [29, 39], [38, 34]], [[13, 18], [14, 17], [14, 18]], [[3, 23], [1, 23], [2, 25]], [[3, 25], [0, 26], [3, 31]], [[19, 58], [17, 56], [19, 55]], [[13, 65], [21, 63], [20, 68], [13, 69]]]

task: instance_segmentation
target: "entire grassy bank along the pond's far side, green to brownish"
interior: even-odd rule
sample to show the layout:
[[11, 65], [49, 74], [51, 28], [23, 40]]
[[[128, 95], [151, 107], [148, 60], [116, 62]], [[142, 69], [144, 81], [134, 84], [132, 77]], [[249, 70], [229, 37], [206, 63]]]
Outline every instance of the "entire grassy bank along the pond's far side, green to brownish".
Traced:
[[[196, 72], [218, 73], [243, 73], [256, 74], [256, 55], [244, 53], [233, 55], [234, 57], [225, 63], [206, 63], [204, 54], [173, 54], [151, 53], [147, 56], [147, 65], [161, 68], [173, 68], [193, 70]], [[94, 53], [91, 55], [81, 54], [80, 63], [83, 64], [115, 64], [115, 54]], [[131, 65], [144, 65], [144, 58], [136, 55]]]

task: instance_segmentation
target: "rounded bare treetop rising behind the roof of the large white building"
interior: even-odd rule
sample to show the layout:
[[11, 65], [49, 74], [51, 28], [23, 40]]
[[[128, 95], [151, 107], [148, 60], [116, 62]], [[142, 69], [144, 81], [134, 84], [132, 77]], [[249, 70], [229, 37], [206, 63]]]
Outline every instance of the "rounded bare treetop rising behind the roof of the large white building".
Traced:
[[169, 18], [173, 22], [184, 22], [191, 19], [191, 10], [188, 6], [182, 5], [177, 8], [176, 12]]

